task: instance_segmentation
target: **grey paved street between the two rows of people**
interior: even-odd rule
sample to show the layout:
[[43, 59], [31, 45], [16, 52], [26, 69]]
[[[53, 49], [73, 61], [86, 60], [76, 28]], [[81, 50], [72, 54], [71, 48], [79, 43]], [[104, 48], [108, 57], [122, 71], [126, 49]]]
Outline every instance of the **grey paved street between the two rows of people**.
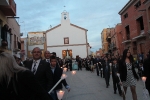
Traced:
[[[68, 93], [65, 90], [63, 100], [122, 100], [122, 97], [114, 94], [112, 78], [110, 86], [106, 88], [104, 78], [101, 78], [95, 73], [91, 73], [83, 69], [77, 71], [76, 75], [72, 75], [70, 71], [66, 72], [67, 82], [71, 86], [71, 91]], [[137, 82], [138, 100], [142, 99], [143, 90], [142, 81]], [[132, 100], [130, 89], [128, 88], [126, 100]]]

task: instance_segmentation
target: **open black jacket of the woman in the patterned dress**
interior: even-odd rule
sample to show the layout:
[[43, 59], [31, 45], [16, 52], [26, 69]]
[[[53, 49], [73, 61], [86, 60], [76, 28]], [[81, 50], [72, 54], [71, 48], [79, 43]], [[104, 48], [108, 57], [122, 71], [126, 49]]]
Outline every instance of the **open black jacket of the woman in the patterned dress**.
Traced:
[[[135, 71], [135, 67], [134, 64], [132, 63], [132, 72], [133, 72], [133, 76], [136, 79], [139, 79], [136, 71]], [[126, 77], [127, 77], [127, 66], [125, 64], [125, 62], [123, 62], [123, 60], [120, 60], [119, 62], [119, 73], [120, 73], [120, 79], [121, 81], [126, 81]]]

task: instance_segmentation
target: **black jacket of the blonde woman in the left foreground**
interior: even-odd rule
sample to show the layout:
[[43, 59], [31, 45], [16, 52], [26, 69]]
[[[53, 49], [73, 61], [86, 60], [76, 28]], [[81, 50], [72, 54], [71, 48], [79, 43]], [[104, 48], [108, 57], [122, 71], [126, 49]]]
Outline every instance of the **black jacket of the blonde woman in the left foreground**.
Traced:
[[5, 81], [0, 83], [0, 100], [52, 100], [30, 71], [15, 76], [8, 87]]

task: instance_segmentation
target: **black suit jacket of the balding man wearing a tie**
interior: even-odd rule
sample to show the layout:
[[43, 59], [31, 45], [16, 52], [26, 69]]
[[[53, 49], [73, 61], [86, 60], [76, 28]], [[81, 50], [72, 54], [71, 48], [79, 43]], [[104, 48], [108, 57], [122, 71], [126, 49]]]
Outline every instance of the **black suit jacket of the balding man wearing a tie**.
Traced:
[[[31, 70], [32, 63], [33, 61], [28, 61], [25, 67]], [[38, 69], [35, 73], [35, 77], [47, 92], [52, 88], [53, 76], [50, 64], [48, 62], [45, 62], [43, 60], [40, 61]]]

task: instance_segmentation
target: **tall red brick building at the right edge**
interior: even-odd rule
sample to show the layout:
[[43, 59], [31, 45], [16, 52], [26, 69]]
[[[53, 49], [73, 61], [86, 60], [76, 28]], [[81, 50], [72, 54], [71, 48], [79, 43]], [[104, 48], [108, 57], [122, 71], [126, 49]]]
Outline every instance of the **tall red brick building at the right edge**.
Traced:
[[[122, 21], [122, 43], [125, 48], [130, 49], [134, 57], [146, 54], [150, 50], [145, 1], [147, 0], [129, 0], [119, 12]], [[148, 10], [150, 12], [150, 9]]]

